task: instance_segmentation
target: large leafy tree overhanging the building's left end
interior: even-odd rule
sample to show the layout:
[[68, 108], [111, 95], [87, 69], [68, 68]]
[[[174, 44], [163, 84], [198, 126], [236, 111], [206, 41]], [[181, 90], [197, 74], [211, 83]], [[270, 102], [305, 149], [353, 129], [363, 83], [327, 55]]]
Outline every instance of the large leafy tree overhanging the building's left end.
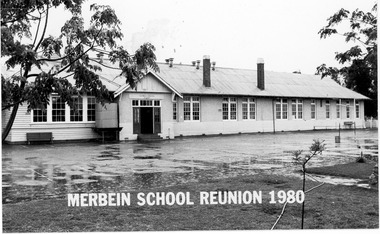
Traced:
[[[158, 71], [152, 44], [141, 45], [134, 54], [119, 45], [123, 38], [121, 22], [111, 7], [92, 4], [93, 15], [85, 29], [82, 4], [83, 0], [1, 1], [1, 57], [6, 59], [7, 69], [20, 70], [11, 77], [1, 77], [2, 110], [11, 110], [3, 141], [19, 105], [26, 103], [28, 110], [43, 109], [52, 92], [69, 106], [73, 106], [73, 95], [90, 93], [101, 103], [112, 99], [97, 75], [102, 66], [107, 66], [103, 63], [104, 56], [120, 69], [132, 87], [149, 68]], [[51, 11], [62, 6], [71, 13], [71, 18], [64, 23], [59, 36], [47, 36]], [[34, 32], [32, 24], [37, 24]], [[50, 69], [42, 71], [41, 67], [46, 65]], [[36, 70], [33, 68], [41, 71], [32, 72]], [[75, 84], [68, 77], [73, 77]]]

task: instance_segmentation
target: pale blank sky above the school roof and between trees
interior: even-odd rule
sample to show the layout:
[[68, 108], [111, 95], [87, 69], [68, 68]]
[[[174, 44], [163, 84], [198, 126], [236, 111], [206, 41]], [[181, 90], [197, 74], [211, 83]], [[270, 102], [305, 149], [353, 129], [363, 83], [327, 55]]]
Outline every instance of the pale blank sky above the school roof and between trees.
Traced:
[[[320, 39], [318, 31], [339, 9], [370, 11], [374, 0], [88, 0], [83, 16], [89, 19], [92, 3], [110, 5], [122, 22], [121, 42], [134, 52], [144, 42], [156, 47], [158, 62], [191, 64], [209, 55], [218, 67], [265, 69], [314, 74], [322, 63], [340, 66], [335, 52], [348, 49], [342, 36]], [[54, 25], [69, 14], [57, 10]], [[60, 27], [48, 27], [58, 35]], [[345, 29], [342, 26], [342, 32]]]

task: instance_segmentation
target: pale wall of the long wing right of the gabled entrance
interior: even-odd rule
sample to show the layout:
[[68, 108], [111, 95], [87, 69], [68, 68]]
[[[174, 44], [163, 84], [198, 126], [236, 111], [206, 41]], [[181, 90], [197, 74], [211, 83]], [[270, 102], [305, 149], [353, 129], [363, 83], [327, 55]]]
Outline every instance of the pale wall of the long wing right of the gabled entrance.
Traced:
[[[330, 115], [326, 118], [326, 100], [319, 100], [316, 106], [316, 119], [311, 119], [311, 99], [303, 100], [303, 118], [294, 119], [291, 115], [291, 99], [288, 99], [288, 118], [274, 119], [273, 108], [275, 99], [256, 98], [256, 119], [242, 119], [242, 98], [238, 98], [238, 110], [236, 120], [223, 120], [222, 118], [222, 97], [206, 96], [201, 97], [200, 121], [183, 120], [183, 102], [179, 101], [179, 120], [175, 125], [175, 136], [196, 136], [196, 135], [216, 135], [216, 134], [237, 134], [273, 131], [302, 131], [313, 129], [338, 129], [345, 128], [345, 122], [355, 122], [357, 128], [364, 127], [364, 119], [355, 118], [353, 110], [350, 110], [350, 118], [345, 117], [345, 112], [341, 111], [341, 118], [336, 118], [335, 104], [330, 100]], [[320, 106], [322, 102], [322, 106]], [[353, 103], [353, 101], [352, 101]], [[363, 102], [360, 102], [360, 116], [364, 116]], [[352, 108], [351, 108], [352, 109]]]

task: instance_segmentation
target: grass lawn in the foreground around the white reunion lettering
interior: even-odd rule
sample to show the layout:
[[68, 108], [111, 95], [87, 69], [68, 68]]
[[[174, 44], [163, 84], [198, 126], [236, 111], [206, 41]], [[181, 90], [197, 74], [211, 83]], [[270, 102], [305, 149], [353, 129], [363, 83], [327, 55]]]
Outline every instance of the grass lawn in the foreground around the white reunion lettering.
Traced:
[[[317, 185], [307, 181], [307, 188]], [[270, 191], [299, 190], [293, 177], [257, 174], [201, 181], [131, 192], [190, 192], [194, 205], [68, 207], [67, 200], [49, 199], [3, 205], [4, 232], [269, 230], [282, 204], [270, 204]], [[249, 205], [200, 205], [200, 191], [262, 191], [263, 202]], [[379, 228], [378, 190], [325, 184], [306, 194], [307, 229]], [[288, 204], [276, 229], [299, 229], [301, 204]]]

